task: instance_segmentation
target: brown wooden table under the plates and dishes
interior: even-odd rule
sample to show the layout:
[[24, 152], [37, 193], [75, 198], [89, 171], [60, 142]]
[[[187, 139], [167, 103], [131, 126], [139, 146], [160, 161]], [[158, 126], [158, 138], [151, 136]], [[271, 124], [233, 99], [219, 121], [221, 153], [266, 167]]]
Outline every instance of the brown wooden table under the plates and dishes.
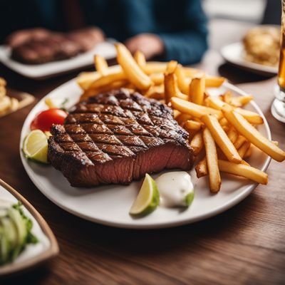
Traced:
[[[224, 64], [218, 53], [220, 46], [237, 41], [248, 27], [212, 22], [212, 48], [199, 66], [234, 83], [252, 81], [239, 87], [255, 95], [274, 140], [285, 149], [285, 125], [270, 113], [276, 78], [261, 81], [264, 78]], [[31, 81], [0, 66], [0, 76], [9, 86], [40, 99], [76, 73]], [[41, 212], [61, 252], [46, 266], [1, 284], [284, 284], [284, 164], [272, 161], [267, 186], [257, 187], [236, 207], [204, 222], [150, 231], [104, 227], [57, 207], [26, 175], [19, 138], [32, 107], [0, 119], [0, 177]]]

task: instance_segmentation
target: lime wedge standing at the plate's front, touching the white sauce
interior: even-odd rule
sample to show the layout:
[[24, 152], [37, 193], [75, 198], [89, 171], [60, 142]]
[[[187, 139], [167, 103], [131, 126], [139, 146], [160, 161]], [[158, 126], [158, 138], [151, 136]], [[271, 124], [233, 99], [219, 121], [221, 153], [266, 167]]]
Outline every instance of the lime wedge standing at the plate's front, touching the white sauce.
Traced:
[[146, 215], [154, 211], [160, 203], [160, 193], [157, 190], [155, 180], [150, 175], [145, 175], [138, 197], [130, 207], [130, 214]]

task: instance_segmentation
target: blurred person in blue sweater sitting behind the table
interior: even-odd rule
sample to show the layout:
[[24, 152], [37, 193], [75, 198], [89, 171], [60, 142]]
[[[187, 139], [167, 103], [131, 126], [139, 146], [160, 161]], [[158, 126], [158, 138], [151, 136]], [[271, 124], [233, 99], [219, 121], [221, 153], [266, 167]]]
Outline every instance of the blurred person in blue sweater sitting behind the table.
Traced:
[[98, 41], [115, 38], [147, 59], [192, 64], [207, 50], [207, 18], [199, 0], [1, 1], [1, 42], [23, 28], [70, 31], [83, 26], [97, 26]]

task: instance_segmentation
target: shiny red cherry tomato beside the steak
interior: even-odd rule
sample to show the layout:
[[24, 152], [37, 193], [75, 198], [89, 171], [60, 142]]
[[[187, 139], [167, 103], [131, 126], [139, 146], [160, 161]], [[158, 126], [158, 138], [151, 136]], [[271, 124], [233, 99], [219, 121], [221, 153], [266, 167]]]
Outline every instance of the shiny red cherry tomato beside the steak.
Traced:
[[44, 110], [36, 115], [36, 118], [31, 122], [30, 128], [31, 130], [38, 129], [46, 132], [51, 129], [53, 124], [63, 125], [66, 116], [67, 113], [58, 108]]

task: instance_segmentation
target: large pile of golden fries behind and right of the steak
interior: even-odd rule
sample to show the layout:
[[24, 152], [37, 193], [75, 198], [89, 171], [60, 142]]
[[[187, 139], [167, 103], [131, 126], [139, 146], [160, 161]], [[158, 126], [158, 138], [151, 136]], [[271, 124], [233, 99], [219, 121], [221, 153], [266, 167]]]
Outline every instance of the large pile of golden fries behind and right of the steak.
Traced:
[[220, 172], [267, 184], [266, 173], [246, 162], [252, 148], [257, 147], [279, 162], [285, 160], [285, 152], [278, 142], [266, 139], [257, 130], [256, 126], [264, 123], [263, 118], [242, 108], [252, 95], [235, 97], [227, 91], [217, 97], [209, 96], [207, 88], [219, 88], [224, 78], [207, 76], [177, 61], [146, 62], [140, 51], [132, 56], [123, 44], [115, 47], [118, 66], [109, 67], [104, 58], [96, 55], [97, 72], [78, 76], [78, 85], [83, 89], [81, 100], [115, 88], [138, 90], [173, 109], [175, 120], [190, 135], [195, 157], [202, 158], [195, 167], [197, 177], [208, 177], [211, 192], [220, 190]]

